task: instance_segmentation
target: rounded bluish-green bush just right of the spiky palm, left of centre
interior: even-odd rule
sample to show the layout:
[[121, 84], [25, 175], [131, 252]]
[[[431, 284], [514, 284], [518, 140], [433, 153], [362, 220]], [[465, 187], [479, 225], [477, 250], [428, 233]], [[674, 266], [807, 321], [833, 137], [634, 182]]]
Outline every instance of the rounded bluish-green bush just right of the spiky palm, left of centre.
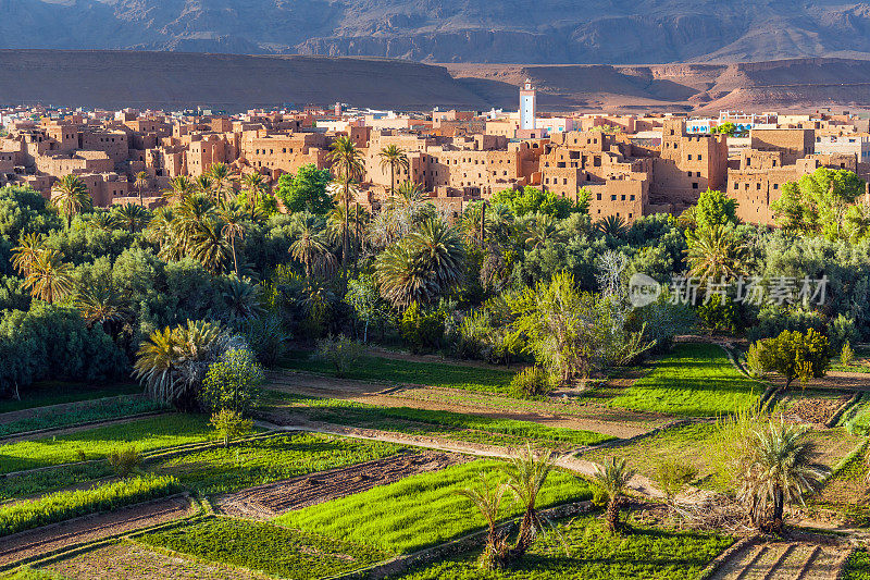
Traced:
[[229, 409], [247, 415], [259, 398], [262, 383], [263, 369], [253, 353], [234, 348], [209, 367], [199, 400], [211, 412]]

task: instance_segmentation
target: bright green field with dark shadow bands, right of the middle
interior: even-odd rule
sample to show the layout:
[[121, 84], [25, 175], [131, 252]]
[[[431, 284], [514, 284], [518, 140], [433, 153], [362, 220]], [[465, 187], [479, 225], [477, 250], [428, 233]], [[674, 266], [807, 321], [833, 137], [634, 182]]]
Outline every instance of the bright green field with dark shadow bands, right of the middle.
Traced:
[[734, 412], [756, 403], [763, 387], [735, 369], [711, 344], [680, 344], [652, 371], [608, 402], [614, 407], [687, 417]]

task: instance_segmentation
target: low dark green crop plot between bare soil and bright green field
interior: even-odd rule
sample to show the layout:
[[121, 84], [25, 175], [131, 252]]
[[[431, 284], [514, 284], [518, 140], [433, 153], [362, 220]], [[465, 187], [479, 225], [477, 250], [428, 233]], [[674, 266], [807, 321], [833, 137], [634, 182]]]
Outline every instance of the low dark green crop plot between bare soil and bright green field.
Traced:
[[299, 580], [348, 572], [387, 556], [350, 542], [231, 518], [211, 518], [149, 533], [137, 541], [209, 562]]

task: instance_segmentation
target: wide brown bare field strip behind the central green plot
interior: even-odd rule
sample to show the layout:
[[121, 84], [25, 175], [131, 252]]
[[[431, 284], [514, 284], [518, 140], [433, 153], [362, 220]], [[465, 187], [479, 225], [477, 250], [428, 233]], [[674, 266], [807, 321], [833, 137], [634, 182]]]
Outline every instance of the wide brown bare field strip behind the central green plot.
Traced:
[[442, 387], [385, 387], [383, 384], [297, 372], [273, 374], [268, 387], [286, 393], [337, 398], [378, 407], [411, 407], [472, 414], [493, 419], [531, 421], [549, 427], [595, 431], [620, 439], [646, 433], [669, 420], [666, 416], [596, 404], [525, 402]]

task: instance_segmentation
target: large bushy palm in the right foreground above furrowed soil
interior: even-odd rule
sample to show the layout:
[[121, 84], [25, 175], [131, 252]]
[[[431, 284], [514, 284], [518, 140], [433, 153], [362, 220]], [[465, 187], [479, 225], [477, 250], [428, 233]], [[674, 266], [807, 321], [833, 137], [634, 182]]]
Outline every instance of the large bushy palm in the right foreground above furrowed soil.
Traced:
[[829, 470], [815, 462], [816, 444], [805, 427], [770, 420], [749, 434], [739, 497], [755, 526], [782, 533], [786, 504], [804, 504]]

